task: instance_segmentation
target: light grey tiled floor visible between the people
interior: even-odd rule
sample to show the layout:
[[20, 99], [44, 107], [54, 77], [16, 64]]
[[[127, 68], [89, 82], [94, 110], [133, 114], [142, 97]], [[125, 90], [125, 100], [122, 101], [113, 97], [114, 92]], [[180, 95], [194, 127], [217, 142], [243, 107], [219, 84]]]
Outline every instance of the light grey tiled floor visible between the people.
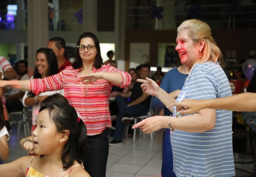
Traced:
[[[138, 131], [138, 130], [137, 130]], [[136, 141], [132, 138], [125, 139], [120, 146], [110, 147], [107, 163], [107, 177], [150, 177], [161, 176], [162, 156], [162, 130], [154, 133], [153, 141], [149, 135], [145, 139], [137, 133]], [[27, 155], [27, 151], [19, 146], [20, 139], [24, 137], [23, 129], [17, 135], [14, 126], [12, 136], [9, 140], [9, 158], [5, 161], [11, 162], [17, 158]], [[112, 140], [112, 137], [109, 138]], [[252, 157], [244, 154], [234, 154], [235, 160], [251, 160]], [[253, 164], [235, 164], [236, 167], [252, 172]], [[236, 170], [236, 176], [245, 175]]]

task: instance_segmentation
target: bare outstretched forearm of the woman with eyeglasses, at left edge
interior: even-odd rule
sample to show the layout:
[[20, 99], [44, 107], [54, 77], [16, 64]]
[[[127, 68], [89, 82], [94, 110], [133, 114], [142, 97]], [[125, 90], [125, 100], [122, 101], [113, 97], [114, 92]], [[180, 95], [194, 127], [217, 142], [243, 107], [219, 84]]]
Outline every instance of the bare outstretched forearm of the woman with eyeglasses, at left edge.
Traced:
[[31, 90], [30, 80], [10, 80], [10, 81], [0, 81], [1, 87], [13, 87], [21, 90]]

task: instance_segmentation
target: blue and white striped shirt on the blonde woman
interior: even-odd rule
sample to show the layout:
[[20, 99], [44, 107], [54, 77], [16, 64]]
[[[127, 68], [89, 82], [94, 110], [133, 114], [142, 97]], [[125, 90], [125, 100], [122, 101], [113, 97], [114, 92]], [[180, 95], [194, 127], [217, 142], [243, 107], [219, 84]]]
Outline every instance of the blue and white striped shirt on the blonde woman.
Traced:
[[[231, 95], [229, 81], [219, 63], [206, 62], [193, 66], [176, 101]], [[177, 177], [235, 176], [231, 111], [216, 110], [216, 124], [212, 130], [201, 133], [175, 130], [171, 133], [171, 145], [173, 171]]]

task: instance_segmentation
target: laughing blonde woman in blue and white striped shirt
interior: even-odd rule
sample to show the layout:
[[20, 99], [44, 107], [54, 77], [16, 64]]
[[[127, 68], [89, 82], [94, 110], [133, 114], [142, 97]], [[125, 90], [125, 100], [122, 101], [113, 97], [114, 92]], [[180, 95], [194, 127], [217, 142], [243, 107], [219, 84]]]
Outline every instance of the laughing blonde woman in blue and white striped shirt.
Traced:
[[[190, 73], [176, 101], [231, 96], [225, 72], [218, 63], [222, 54], [211, 36], [211, 28], [197, 19], [178, 27], [176, 50]], [[153, 80], [139, 80], [144, 92], [157, 96], [167, 106], [173, 99]], [[170, 110], [176, 113], [176, 107]], [[232, 149], [232, 112], [202, 109], [184, 116], [154, 116], [138, 123], [143, 132], [171, 130], [173, 171], [181, 176], [235, 176]], [[174, 131], [173, 131], [174, 130]]]

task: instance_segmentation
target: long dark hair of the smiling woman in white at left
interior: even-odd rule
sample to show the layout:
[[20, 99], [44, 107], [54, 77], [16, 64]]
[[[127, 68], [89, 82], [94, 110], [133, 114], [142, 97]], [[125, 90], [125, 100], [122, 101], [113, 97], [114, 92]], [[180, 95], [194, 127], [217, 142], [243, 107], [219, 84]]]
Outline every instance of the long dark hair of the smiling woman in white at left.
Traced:
[[[38, 53], [44, 53], [46, 56], [46, 60], [48, 63], [48, 72], [47, 72], [46, 76], [48, 77], [48, 76], [57, 74], [58, 73], [58, 62], [57, 62], [57, 58], [56, 58], [56, 55], [54, 54], [53, 50], [50, 48], [39, 48], [37, 50], [37, 54]], [[41, 74], [39, 74], [36, 66], [35, 66], [33, 77], [34, 77], [34, 79], [42, 78], [42, 76], [41, 76]]]

